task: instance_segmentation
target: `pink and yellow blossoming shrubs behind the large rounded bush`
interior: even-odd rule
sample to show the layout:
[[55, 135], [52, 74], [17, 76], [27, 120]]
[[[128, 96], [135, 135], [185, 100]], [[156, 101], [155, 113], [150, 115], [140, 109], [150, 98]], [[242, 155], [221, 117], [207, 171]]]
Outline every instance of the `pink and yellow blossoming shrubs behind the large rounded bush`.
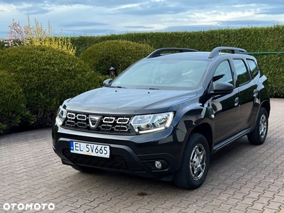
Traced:
[[52, 47], [58, 50], [63, 50], [66, 53], [75, 55], [76, 49], [72, 46], [70, 37], [60, 35], [56, 37], [48, 23], [48, 30], [43, 29], [43, 25], [35, 19], [35, 26], [31, 26], [28, 16], [28, 25], [21, 26], [19, 22], [13, 20], [9, 26], [9, 37], [2, 39], [6, 46], [18, 45], [43, 45]]

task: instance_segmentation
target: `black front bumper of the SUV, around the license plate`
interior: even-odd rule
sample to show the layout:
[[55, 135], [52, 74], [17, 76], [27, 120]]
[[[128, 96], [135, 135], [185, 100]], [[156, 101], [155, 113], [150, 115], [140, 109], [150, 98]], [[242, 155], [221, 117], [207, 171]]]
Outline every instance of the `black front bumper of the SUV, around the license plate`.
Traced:
[[[164, 131], [142, 135], [111, 135], [53, 126], [53, 150], [66, 165], [114, 170], [148, 178], [171, 180], [180, 166], [185, 133], [170, 126]], [[70, 152], [70, 141], [110, 147], [110, 157], [100, 158]], [[162, 168], [155, 168], [155, 161]]]

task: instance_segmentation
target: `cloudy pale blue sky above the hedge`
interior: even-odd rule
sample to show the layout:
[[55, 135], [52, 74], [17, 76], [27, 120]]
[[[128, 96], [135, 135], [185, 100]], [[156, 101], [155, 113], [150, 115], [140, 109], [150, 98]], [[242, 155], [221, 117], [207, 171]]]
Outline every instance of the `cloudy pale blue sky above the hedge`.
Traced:
[[0, 0], [0, 38], [13, 20], [55, 35], [208, 31], [284, 24], [283, 0]]

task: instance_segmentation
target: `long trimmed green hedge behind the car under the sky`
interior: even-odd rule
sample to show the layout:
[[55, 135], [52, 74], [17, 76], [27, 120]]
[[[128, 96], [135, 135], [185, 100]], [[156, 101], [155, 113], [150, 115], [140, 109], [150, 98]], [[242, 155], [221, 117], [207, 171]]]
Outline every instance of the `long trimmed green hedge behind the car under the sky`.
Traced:
[[[129, 40], [135, 43], [150, 45], [155, 49], [180, 47], [211, 51], [217, 46], [235, 46], [244, 48], [249, 53], [283, 51], [284, 25], [275, 25], [266, 28], [227, 28], [198, 32], [125, 33], [71, 38], [72, 44], [77, 48], [77, 56], [81, 55], [91, 45], [106, 40]], [[284, 97], [282, 89], [284, 87], [283, 57], [284, 55], [256, 56], [259, 65], [268, 77], [271, 97]]]

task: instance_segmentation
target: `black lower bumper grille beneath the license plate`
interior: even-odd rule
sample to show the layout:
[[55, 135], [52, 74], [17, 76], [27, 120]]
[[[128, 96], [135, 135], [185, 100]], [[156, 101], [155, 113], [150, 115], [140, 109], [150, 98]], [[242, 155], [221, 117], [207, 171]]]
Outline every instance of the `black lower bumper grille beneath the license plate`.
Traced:
[[81, 155], [71, 153], [69, 149], [63, 150], [63, 155], [78, 165], [92, 165], [97, 168], [109, 168], [114, 170], [128, 170], [126, 161], [118, 155], [111, 155], [110, 158], [99, 158], [92, 155]]

